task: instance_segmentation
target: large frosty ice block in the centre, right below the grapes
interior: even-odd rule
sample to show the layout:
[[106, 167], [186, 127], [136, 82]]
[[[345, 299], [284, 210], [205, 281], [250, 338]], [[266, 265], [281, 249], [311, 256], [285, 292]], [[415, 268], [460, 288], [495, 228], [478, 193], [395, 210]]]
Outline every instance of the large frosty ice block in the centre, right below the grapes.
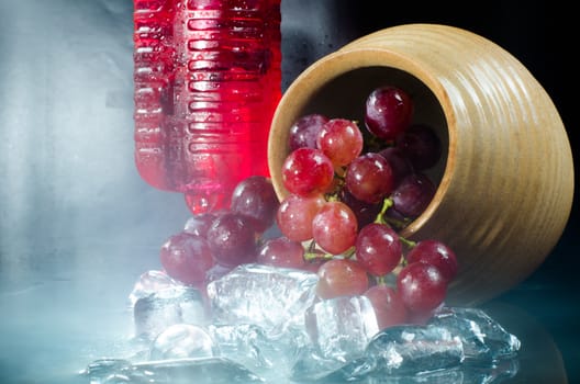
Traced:
[[304, 326], [319, 276], [309, 271], [242, 264], [208, 284], [214, 324], [254, 324], [269, 337]]

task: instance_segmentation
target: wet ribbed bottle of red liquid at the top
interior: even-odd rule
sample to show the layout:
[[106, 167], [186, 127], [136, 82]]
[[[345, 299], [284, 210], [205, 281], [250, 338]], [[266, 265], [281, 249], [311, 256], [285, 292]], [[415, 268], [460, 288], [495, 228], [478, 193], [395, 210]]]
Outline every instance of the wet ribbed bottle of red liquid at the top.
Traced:
[[134, 0], [135, 162], [194, 214], [269, 176], [280, 0]]

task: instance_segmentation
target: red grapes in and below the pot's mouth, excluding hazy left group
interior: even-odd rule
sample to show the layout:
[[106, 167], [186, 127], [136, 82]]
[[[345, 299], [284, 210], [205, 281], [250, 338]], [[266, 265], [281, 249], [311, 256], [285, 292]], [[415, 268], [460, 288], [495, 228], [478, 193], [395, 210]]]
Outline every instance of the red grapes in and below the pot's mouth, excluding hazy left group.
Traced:
[[375, 89], [358, 122], [314, 113], [291, 127], [281, 177], [288, 196], [277, 224], [288, 241], [315, 260], [317, 295], [367, 295], [379, 325], [422, 319], [445, 300], [457, 273], [442, 241], [399, 234], [428, 205], [436, 185], [424, 172], [442, 144], [412, 123], [414, 103], [402, 89]]

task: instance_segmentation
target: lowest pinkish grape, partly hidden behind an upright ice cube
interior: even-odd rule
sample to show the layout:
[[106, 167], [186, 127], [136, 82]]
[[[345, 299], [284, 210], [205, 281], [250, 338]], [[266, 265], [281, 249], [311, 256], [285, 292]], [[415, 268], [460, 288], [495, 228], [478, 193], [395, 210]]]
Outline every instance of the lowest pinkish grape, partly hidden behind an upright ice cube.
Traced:
[[404, 324], [406, 307], [399, 293], [391, 286], [378, 284], [369, 287], [365, 293], [372, 304], [379, 329]]

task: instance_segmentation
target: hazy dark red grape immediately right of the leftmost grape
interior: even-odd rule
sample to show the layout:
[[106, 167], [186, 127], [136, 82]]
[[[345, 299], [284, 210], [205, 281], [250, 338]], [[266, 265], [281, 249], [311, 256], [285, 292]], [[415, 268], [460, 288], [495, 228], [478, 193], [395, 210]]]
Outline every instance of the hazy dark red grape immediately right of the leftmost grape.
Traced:
[[256, 229], [246, 215], [236, 212], [220, 215], [207, 237], [213, 257], [222, 266], [236, 267], [256, 260]]

